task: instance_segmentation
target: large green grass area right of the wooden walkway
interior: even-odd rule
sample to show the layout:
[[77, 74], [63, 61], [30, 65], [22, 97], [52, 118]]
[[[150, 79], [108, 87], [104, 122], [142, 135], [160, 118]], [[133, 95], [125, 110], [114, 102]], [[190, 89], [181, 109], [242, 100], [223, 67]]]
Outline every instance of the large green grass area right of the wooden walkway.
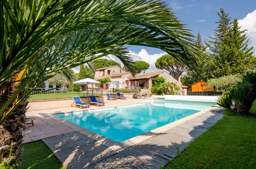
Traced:
[[225, 115], [165, 168], [255, 168], [255, 131], [256, 118]]

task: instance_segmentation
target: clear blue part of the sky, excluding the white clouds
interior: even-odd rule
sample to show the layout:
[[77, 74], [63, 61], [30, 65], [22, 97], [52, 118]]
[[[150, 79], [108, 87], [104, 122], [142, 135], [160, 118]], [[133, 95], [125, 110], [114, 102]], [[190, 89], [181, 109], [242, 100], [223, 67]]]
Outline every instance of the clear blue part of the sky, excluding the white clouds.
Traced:
[[[201, 34], [203, 40], [212, 36], [213, 29], [216, 28], [215, 22], [219, 20], [217, 11], [222, 7], [230, 17], [243, 19], [250, 12], [256, 9], [256, 0], [182, 0], [182, 1], [165, 1], [166, 4], [176, 13], [182, 24], [187, 24], [187, 28], [194, 35]], [[256, 18], [255, 18], [256, 19]], [[160, 49], [131, 46], [129, 50], [139, 53], [141, 49], [146, 49], [148, 54], [161, 53]]]

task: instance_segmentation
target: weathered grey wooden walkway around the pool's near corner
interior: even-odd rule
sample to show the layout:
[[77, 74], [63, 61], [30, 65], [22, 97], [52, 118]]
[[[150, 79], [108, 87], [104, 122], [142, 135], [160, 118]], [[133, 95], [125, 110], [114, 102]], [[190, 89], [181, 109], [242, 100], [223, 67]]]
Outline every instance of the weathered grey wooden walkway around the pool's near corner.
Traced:
[[223, 114], [208, 112], [125, 150], [110, 149], [79, 133], [43, 139], [55, 156], [71, 168], [159, 168], [176, 157]]

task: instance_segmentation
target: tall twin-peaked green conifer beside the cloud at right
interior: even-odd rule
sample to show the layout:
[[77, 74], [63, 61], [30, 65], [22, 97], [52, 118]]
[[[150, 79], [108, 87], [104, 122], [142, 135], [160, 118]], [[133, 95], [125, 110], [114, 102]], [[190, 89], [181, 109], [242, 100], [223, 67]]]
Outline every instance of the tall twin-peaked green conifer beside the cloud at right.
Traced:
[[255, 67], [255, 57], [252, 48], [248, 48], [246, 30], [241, 30], [238, 20], [230, 22], [229, 15], [220, 8], [220, 17], [213, 39], [209, 41], [211, 50], [208, 74], [212, 78], [227, 76], [230, 74], [245, 73]]

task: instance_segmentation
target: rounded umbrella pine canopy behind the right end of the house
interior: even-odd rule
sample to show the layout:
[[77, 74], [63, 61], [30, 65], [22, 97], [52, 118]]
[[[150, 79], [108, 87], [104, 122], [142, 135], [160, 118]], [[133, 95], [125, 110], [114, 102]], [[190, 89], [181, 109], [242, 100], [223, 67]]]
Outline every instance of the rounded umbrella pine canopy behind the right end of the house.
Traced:
[[158, 58], [155, 62], [155, 67], [157, 69], [164, 69], [168, 71], [168, 73], [177, 80], [187, 69], [187, 66], [185, 64], [169, 54], [163, 55]]

